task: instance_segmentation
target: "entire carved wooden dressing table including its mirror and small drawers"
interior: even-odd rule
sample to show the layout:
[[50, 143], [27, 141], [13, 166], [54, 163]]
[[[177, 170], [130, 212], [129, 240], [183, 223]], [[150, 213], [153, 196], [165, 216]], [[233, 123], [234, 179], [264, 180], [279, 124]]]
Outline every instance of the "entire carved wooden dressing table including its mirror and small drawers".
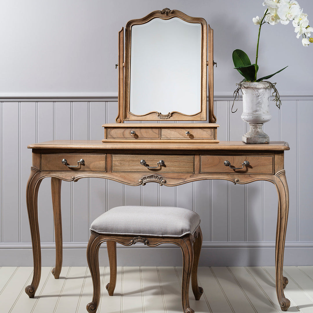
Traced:
[[[154, 26], [156, 28], [153, 28]], [[184, 36], [190, 34], [190, 40], [194, 38], [198, 40], [193, 44], [198, 50], [196, 49], [194, 54], [188, 50], [188, 53], [182, 56], [183, 59], [175, 65], [177, 54], [183, 54], [179, 46], [178, 51], [176, 49], [172, 53], [173, 59], [169, 59], [165, 64], [160, 63], [160, 59], [157, 58], [162, 55], [161, 51], [167, 51], [171, 46], [168, 43], [165, 47], [165, 43], [171, 41], [173, 36], [171, 31], [167, 32], [166, 36], [170, 40], [167, 39], [165, 42], [163, 39], [166, 36], [162, 29], [172, 27], [175, 33], [180, 28], [179, 26], [182, 26], [183, 31], [178, 31], [177, 36], [181, 38], [173, 40], [175, 44], [171, 49], [174, 49], [182, 38], [185, 38]], [[161, 33], [157, 33], [157, 29], [161, 29]], [[138, 64], [137, 60], [133, 62], [133, 59], [136, 59], [138, 50], [142, 49], [136, 48], [136, 45], [146, 38], [146, 33], [149, 36], [155, 33], [159, 40], [159, 47], [154, 47], [153, 50], [161, 48], [163, 50], [157, 50], [158, 52], [153, 56], [155, 60], [151, 59], [151, 55], [146, 60], [144, 55], [140, 55]], [[148, 46], [151, 47], [155, 41], [156, 38], [149, 41]], [[30, 298], [34, 297], [41, 274], [37, 198], [40, 182], [45, 177], [51, 177], [56, 245], [56, 264], [52, 273], [55, 278], [59, 278], [62, 267], [62, 180], [76, 182], [85, 177], [98, 177], [131, 186], [154, 182], [169, 187], [208, 179], [223, 179], [234, 184], [265, 180], [272, 182], [278, 193], [275, 249], [276, 292], [281, 309], [286, 311], [290, 306], [290, 301], [285, 298], [283, 290], [288, 283], [287, 278], [283, 277], [289, 209], [284, 151], [289, 150], [288, 143], [245, 144], [241, 141], [218, 141], [218, 125], [215, 124], [216, 118], [213, 113], [213, 30], [207, 26], [204, 19], [191, 18], [180, 11], [167, 8], [154, 11], [142, 19], [127, 23], [125, 45], [124, 62], [124, 30], [122, 28], [119, 32], [119, 112], [116, 124], [103, 125], [102, 141], [59, 140], [28, 146], [32, 149], [32, 167], [27, 183], [26, 201], [33, 246], [34, 272], [31, 285], [25, 289], [26, 293]], [[185, 43], [184, 46], [189, 49], [190, 45]], [[193, 61], [190, 64], [187, 62], [189, 54], [192, 58], [198, 58], [196, 73], [192, 72], [195, 66]], [[154, 67], [153, 64], [158, 65]], [[148, 68], [147, 72], [145, 72], [146, 68]], [[180, 79], [179, 92], [172, 92], [169, 85], [173, 77], [169, 75], [168, 81], [162, 78], [160, 82], [157, 79], [159, 76], [156, 73], [157, 68], [162, 68], [160, 69], [163, 71], [162, 75], [169, 70], [175, 71], [175, 68], [179, 68], [176, 79], [184, 77], [187, 84], [184, 85], [184, 79]], [[186, 76], [185, 72], [191, 72], [191, 74]], [[148, 75], [151, 76], [147, 78]], [[188, 80], [187, 77], [193, 77], [192, 75], [198, 78]], [[154, 78], [159, 81], [155, 84], [159, 85], [150, 95], [153, 91], [150, 85], [154, 85]], [[196, 81], [195, 84], [193, 80]], [[136, 86], [137, 83], [138, 86]], [[144, 86], [144, 97], [140, 96], [139, 88], [142, 88], [140, 85]], [[177, 86], [174, 86], [174, 90], [175, 88]], [[172, 93], [174, 95], [170, 96]], [[196, 100], [188, 98], [190, 94], [195, 94]], [[174, 109], [175, 105], [177, 109]], [[144, 123], [127, 123], [127, 121], [144, 121]], [[146, 121], [154, 122], [145, 123]], [[162, 123], [156, 123], [156, 121], [162, 121]], [[171, 123], [171, 121], [183, 122]]]

